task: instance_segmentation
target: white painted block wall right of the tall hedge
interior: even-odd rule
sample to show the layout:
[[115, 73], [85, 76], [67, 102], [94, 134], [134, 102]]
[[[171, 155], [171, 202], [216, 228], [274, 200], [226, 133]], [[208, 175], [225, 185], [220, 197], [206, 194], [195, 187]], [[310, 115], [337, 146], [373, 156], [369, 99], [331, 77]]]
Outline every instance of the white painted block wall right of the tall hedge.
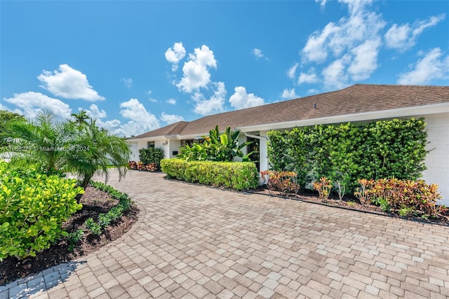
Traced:
[[424, 116], [427, 123], [427, 169], [423, 177], [427, 183], [436, 183], [443, 199], [449, 206], [449, 113]]

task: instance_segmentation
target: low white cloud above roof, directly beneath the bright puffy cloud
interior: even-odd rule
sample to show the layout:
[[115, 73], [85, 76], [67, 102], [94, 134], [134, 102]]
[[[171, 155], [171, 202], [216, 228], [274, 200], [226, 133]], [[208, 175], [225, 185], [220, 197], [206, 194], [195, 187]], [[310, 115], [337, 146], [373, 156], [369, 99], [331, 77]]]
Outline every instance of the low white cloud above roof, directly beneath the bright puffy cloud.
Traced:
[[201, 92], [196, 92], [192, 99], [195, 101], [194, 112], [206, 116], [212, 113], [220, 113], [225, 111], [225, 97], [226, 88], [225, 83], [217, 82], [213, 83], [215, 85], [215, 91], [213, 95], [206, 99]]

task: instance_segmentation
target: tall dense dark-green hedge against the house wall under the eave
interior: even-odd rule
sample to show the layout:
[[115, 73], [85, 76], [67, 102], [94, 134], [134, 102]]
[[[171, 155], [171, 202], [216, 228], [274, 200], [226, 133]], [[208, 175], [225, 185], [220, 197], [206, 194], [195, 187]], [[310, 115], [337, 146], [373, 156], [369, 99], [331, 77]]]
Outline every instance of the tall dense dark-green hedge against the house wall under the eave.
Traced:
[[295, 127], [268, 137], [270, 166], [297, 172], [302, 188], [326, 176], [351, 193], [361, 178], [415, 180], [426, 169], [423, 118]]

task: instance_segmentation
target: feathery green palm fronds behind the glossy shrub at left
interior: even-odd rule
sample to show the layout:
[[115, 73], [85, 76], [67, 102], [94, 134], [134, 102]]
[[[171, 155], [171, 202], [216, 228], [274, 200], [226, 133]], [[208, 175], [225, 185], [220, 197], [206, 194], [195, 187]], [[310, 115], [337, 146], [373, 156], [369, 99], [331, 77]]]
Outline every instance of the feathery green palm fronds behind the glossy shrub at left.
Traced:
[[8, 123], [1, 137], [11, 141], [1, 151], [13, 153], [14, 165], [36, 165], [49, 174], [73, 172], [84, 188], [94, 174], [107, 181], [110, 166], [116, 167], [120, 178], [126, 174], [130, 150], [125, 139], [99, 128], [93, 119], [87, 122], [83, 115], [75, 121], [58, 121], [54, 113], [42, 111], [34, 121]]

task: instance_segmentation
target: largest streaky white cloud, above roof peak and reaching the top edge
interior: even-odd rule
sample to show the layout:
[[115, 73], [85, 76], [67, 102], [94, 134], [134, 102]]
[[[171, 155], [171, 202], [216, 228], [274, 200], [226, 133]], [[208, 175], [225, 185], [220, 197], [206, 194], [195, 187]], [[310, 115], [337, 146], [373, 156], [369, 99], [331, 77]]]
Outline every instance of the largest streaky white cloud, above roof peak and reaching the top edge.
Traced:
[[[319, 1], [321, 6], [326, 1]], [[342, 88], [349, 81], [365, 80], [379, 67], [377, 57], [382, 47], [381, 31], [386, 22], [380, 13], [370, 11], [372, 0], [339, 0], [347, 5], [347, 17], [329, 22], [317, 30], [300, 51], [302, 67], [314, 67], [302, 72], [297, 83], [319, 83], [326, 88]], [[321, 64], [320, 78], [315, 67]]]

